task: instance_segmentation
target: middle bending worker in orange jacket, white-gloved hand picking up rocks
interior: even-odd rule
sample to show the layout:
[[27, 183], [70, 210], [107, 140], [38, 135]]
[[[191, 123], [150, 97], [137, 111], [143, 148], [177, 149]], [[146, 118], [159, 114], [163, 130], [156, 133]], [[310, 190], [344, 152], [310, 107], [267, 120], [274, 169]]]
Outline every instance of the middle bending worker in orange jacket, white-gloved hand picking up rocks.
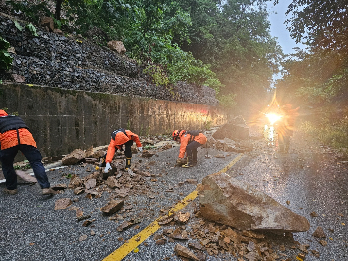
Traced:
[[111, 133], [110, 145], [109, 145], [109, 148], [107, 149], [107, 153], [103, 157], [103, 159], [106, 162], [104, 173], [107, 173], [111, 169], [110, 163], [114, 157], [114, 154], [117, 149], [122, 151], [123, 145], [125, 145], [125, 150], [124, 150], [124, 154], [126, 158], [125, 170], [128, 170], [130, 168], [130, 163], [132, 160], [131, 147], [134, 141], [137, 144], [138, 150], [142, 152], [143, 147], [141, 146], [141, 143], [137, 134], [134, 134], [130, 130], [125, 130], [123, 128], [115, 130]]

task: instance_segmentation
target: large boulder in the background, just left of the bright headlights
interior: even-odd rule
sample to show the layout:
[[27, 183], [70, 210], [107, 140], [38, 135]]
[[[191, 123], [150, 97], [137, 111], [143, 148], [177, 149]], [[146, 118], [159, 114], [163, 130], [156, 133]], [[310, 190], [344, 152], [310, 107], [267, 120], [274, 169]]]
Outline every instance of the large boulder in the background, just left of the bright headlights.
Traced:
[[223, 140], [224, 138], [246, 139], [249, 137], [249, 127], [245, 123], [245, 119], [239, 115], [221, 125], [212, 137], [216, 140]]

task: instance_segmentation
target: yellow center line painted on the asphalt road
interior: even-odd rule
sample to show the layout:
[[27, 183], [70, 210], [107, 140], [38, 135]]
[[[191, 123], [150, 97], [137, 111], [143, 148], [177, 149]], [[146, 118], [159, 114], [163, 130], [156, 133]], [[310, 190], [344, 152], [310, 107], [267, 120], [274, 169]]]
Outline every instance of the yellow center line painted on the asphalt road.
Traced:
[[[227, 166], [225, 166], [222, 170], [220, 170], [218, 173], [226, 172], [229, 170], [234, 164], [240, 160], [244, 154], [240, 154], [237, 157], [235, 157]], [[197, 197], [197, 191], [192, 191], [189, 195], [187, 195], [183, 200], [176, 203], [176, 205], [169, 210], [169, 213], [174, 213], [176, 211], [179, 211], [187, 206], [192, 200], [194, 200]], [[116, 249], [114, 252], [112, 252], [110, 255], [108, 255], [106, 258], [104, 258], [102, 261], [121, 261], [124, 257], [126, 257], [134, 248], [139, 246], [142, 242], [144, 242], [150, 235], [155, 233], [161, 225], [158, 225], [158, 220], [160, 218], [157, 218], [155, 221], [153, 221], [149, 226], [147, 226], [145, 229], [140, 231], [137, 235], [134, 235], [131, 239], [128, 240], [127, 243], [124, 243], [122, 246], [120, 246], [118, 249]]]

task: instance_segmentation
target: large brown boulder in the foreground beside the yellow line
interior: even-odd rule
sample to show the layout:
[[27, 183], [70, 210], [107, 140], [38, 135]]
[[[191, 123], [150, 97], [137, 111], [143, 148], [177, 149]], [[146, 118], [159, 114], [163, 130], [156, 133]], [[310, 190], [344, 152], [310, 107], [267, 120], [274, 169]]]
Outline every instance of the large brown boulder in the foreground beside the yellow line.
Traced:
[[239, 230], [275, 233], [309, 230], [305, 217], [226, 173], [203, 178], [199, 187], [199, 203], [202, 217]]

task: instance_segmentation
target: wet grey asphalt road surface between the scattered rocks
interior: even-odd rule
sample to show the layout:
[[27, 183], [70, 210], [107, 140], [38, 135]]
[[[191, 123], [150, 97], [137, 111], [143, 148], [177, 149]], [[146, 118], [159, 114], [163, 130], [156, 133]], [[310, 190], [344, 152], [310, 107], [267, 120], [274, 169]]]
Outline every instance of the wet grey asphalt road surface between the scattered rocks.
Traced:
[[[253, 128], [263, 132], [261, 127]], [[272, 131], [268, 131], [265, 133], [265, 139], [253, 141], [254, 150], [245, 153], [227, 173], [252, 184], [293, 212], [308, 219], [310, 230], [294, 233], [294, 240], [301, 244], [309, 244], [309, 249], [319, 251], [320, 258], [308, 254], [305, 260], [347, 261], [348, 165], [338, 164], [333, 154], [296, 132], [289, 153], [277, 154], [274, 147], [276, 139], [273, 134]], [[110, 221], [109, 217], [99, 210], [110, 200], [107, 192], [104, 192], [101, 198], [92, 200], [87, 199], [84, 194], [74, 195], [72, 189], [66, 189], [55, 196], [44, 196], [41, 195], [38, 184], [20, 183], [17, 195], [0, 193], [0, 260], [100, 261], [119, 248], [124, 240], [136, 235], [154, 221], [159, 216], [160, 209], [169, 209], [196, 188], [189, 183], [178, 186], [180, 181], [197, 179], [200, 183], [206, 175], [221, 170], [239, 155], [209, 148], [210, 155], [224, 154], [226, 158], [205, 159], [205, 149], [199, 148], [197, 165], [194, 168], [184, 169], [174, 167], [178, 151], [178, 147], [158, 151], [158, 156], [149, 159], [141, 158], [139, 154], [133, 155], [132, 165], [139, 170], [146, 170], [150, 161], [156, 161], [155, 165], [149, 166], [149, 172], [162, 173], [160, 175], [162, 177], [156, 177], [158, 179], [156, 182], [150, 181], [152, 177], [145, 177], [149, 194], [131, 193], [124, 200], [125, 205], [129, 203], [134, 205], [134, 208], [129, 213], [121, 210], [118, 212], [124, 220], [139, 218], [141, 220], [138, 224], [139, 229], [133, 226], [123, 232], [116, 231], [122, 221]], [[142, 160], [141, 163], [138, 163], [139, 159]], [[60, 183], [69, 184], [69, 179], [62, 177], [68, 173], [77, 174], [79, 177], [91, 174], [86, 171], [87, 168], [93, 170], [94, 166], [79, 164], [47, 173], [53, 186]], [[174, 187], [173, 192], [165, 192], [168, 185]], [[4, 183], [0, 183], [0, 189], [4, 187]], [[151, 199], [149, 196], [154, 198]], [[82, 227], [83, 221], [77, 221], [75, 211], [69, 211], [68, 208], [54, 211], [55, 201], [60, 198], [78, 198], [72, 206], [80, 207], [84, 214], [91, 215], [89, 220], [93, 220], [92, 225]], [[289, 205], [286, 204], [287, 200], [290, 201]], [[198, 198], [194, 201], [198, 204]], [[193, 207], [187, 206], [183, 212], [193, 213], [193, 210]], [[313, 211], [318, 217], [310, 216]], [[191, 225], [199, 222], [199, 219], [193, 216], [192, 214], [186, 225], [188, 231], [191, 230]], [[326, 234], [324, 240], [328, 244], [325, 247], [319, 244], [318, 238], [312, 236], [318, 226], [321, 226]], [[171, 227], [163, 226], [157, 233]], [[90, 235], [91, 230], [95, 232], [94, 236]], [[87, 239], [79, 241], [82, 235], [88, 235]], [[290, 238], [272, 235], [269, 238], [277, 253], [284, 253], [295, 260], [294, 256], [301, 252], [291, 248], [294, 240]], [[189, 242], [198, 240], [190, 239], [188, 242], [178, 243], [187, 246]], [[147, 243], [147, 246], [144, 243]], [[170, 260], [180, 260], [173, 251], [176, 242], [156, 245], [150, 236], [144, 243], [139, 245], [139, 252], [130, 252], [124, 260], [154, 261], [166, 257]], [[280, 244], [285, 245], [285, 251], [279, 250]], [[286, 257], [281, 258], [286, 259]], [[208, 255], [207, 260], [236, 261], [237, 258], [229, 254], [218, 254]]]

